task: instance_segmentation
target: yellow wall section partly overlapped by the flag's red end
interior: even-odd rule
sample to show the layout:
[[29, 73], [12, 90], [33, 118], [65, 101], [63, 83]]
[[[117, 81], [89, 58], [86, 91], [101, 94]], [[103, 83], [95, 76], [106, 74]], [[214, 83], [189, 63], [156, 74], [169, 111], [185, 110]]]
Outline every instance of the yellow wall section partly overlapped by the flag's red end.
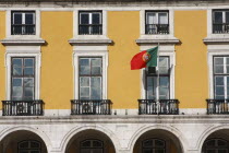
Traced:
[[130, 61], [140, 51], [135, 39], [140, 37], [138, 11], [109, 11], [108, 37], [108, 98], [113, 108], [137, 108], [140, 98], [140, 70], [131, 70]]

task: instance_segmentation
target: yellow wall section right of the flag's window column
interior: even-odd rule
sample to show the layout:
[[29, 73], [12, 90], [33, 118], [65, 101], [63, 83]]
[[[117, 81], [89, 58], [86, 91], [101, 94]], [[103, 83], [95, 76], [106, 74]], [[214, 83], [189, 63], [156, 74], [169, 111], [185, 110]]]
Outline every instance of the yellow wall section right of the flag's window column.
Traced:
[[174, 11], [176, 98], [180, 108], [206, 108], [208, 98], [206, 11]]

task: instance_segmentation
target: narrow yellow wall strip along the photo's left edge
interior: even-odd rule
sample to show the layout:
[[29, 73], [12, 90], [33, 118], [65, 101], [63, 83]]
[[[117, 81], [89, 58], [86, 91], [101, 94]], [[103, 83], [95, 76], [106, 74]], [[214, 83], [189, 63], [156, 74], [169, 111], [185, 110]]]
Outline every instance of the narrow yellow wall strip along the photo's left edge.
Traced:
[[[0, 39], [5, 38], [5, 12], [0, 11]], [[4, 68], [5, 48], [0, 44], [0, 99], [5, 99], [5, 68]], [[1, 109], [2, 105], [0, 105]]]

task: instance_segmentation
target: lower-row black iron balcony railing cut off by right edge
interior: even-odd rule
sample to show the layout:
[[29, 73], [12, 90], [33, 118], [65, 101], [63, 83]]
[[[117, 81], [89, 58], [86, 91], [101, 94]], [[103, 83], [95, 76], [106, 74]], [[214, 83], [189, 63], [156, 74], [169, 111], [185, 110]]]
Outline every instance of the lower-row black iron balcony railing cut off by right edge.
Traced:
[[207, 114], [229, 114], [229, 99], [206, 99]]

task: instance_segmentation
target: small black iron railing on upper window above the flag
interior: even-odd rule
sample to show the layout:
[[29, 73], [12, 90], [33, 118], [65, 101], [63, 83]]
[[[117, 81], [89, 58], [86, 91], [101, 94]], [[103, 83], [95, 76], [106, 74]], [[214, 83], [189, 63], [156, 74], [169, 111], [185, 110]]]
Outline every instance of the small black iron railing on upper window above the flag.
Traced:
[[169, 34], [169, 24], [146, 24], [145, 34]]

